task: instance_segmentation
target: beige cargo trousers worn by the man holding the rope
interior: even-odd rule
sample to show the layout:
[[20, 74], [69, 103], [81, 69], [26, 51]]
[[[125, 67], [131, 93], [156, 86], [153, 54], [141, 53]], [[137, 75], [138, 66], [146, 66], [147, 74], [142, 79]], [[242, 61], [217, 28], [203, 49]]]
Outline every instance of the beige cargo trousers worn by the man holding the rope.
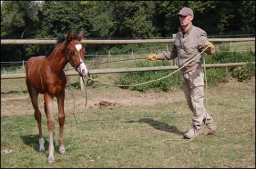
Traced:
[[202, 68], [182, 73], [182, 88], [188, 107], [193, 112], [192, 124], [201, 126], [202, 122], [212, 123], [212, 117], [204, 107], [204, 71]]

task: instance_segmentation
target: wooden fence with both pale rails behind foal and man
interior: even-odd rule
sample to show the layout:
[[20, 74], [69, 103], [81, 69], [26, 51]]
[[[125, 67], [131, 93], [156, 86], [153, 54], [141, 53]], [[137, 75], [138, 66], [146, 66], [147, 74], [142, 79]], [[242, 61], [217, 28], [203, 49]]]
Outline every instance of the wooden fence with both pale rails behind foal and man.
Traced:
[[[255, 38], [209, 38], [212, 42], [232, 42], [232, 41], [255, 41]], [[86, 45], [104, 45], [104, 44], [132, 44], [132, 43], [172, 43], [174, 39], [156, 39], [156, 40], [82, 40]], [[56, 44], [56, 40], [1, 40], [1, 45], [48, 45]], [[205, 64], [205, 68], [216, 68], [226, 66], [243, 66], [247, 62], [226, 63], [226, 64]], [[157, 66], [147, 68], [124, 68], [124, 69], [106, 69], [90, 70], [91, 75], [105, 73], [126, 73], [133, 71], [157, 71], [157, 70], [177, 70], [177, 66]], [[77, 76], [76, 71], [68, 71], [68, 76]], [[26, 78], [25, 73], [1, 75], [1, 79]], [[81, 80], [82, 81], [82, 80]], [[82, 85], [81, 85], [82, 86]]]

